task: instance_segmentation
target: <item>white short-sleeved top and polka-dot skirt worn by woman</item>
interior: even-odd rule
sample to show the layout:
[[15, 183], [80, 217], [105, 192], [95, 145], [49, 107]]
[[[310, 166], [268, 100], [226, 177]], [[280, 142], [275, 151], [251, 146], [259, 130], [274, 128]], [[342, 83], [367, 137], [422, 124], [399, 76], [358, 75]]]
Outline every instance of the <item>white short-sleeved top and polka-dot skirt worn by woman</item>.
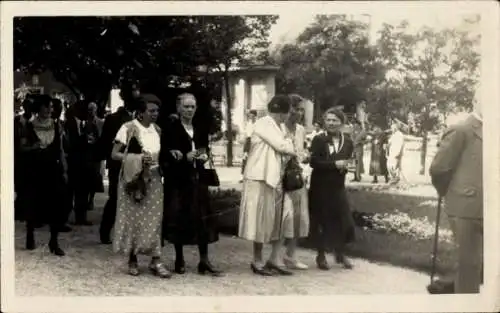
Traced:
[[[132, 125], [133, 124], [133, 125]], [[155, 125], [144, 127], [137, 120], [125, 123], [116, 135], [116, 141], [127, 144], [128, 128], [136, 127], [135, 136], [143, 151], [153, 156], [150, 181], [145, 198], [136, 203], [125, 192], [120, 174], [118, 205], [114, 226], [113, 251], [129, 254], [161, 256], [161, 230], [163, 222], [163, 184], [158, 170], [160, 134]]]

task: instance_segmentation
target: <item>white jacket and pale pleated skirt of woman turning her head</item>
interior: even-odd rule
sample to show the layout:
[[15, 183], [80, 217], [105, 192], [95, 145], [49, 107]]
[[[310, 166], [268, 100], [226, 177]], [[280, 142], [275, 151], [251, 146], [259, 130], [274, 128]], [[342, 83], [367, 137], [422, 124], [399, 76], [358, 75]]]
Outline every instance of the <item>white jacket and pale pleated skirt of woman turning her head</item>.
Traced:
[[283, 152], [294, 151], [279, 125], [269, 116], [257, 120], [243, 173], [238, 236], [259, 243], [284, 238]]

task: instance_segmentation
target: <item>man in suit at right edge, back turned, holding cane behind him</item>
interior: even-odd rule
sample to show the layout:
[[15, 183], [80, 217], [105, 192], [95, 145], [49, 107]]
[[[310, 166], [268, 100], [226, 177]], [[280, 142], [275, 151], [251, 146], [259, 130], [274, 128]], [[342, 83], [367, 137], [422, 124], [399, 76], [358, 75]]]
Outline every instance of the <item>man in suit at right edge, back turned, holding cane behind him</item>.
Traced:
[[[444, 198], [445, 212], [458, 246], [453, 284], [443, 290], [478, 293], [483, 268], [483, 141], [480, 108], [447, 129], [432, 161], [432, 184]], [[436, 283], [438, 284], [438, 283]], [[433, 284], [435, 285], [435, 284]], [[435, 286], [429, 286], [431, 293]]]

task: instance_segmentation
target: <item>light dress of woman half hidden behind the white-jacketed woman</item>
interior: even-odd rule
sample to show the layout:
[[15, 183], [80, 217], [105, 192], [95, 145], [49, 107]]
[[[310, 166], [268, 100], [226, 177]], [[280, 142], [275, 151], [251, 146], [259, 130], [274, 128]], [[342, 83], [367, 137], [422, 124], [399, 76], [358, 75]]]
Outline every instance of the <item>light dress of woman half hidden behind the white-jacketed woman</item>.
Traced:
[[[295, 132], [291, 133], [287, 127], [282, 124], [281, 128], [291, 138], [295, 151], [299, 156], [299, 162], [303, 166], [302, 161], [305, 157], [304, 144], [306, 140], [306, 131], [302, 125], [297, 124]], [[304, 171], [307, 175], [307, 171]], [[307, 185], [302, 189], [286, 192], [283, 202], [283, 219], [282, 219], [283, 235], [287, 239], [305, 238], [309, 235], [309, 206], [307, 198]]]

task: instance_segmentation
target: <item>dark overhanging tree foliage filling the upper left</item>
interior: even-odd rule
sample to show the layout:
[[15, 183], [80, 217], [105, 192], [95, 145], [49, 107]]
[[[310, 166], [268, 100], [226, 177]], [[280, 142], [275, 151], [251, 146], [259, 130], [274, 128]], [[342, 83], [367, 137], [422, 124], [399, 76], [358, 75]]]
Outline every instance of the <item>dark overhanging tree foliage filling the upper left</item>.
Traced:
[[[124, 79], [164, 88], [192, 81], [199, 65], [258, 58], [273, 16], [20, 17], [15, 68], [50, 70], [76, 95], [105, 98]], [[42, 30], [43, 31], [40, 31]], [[180, 77], [181, 79], [175, 79]]]

